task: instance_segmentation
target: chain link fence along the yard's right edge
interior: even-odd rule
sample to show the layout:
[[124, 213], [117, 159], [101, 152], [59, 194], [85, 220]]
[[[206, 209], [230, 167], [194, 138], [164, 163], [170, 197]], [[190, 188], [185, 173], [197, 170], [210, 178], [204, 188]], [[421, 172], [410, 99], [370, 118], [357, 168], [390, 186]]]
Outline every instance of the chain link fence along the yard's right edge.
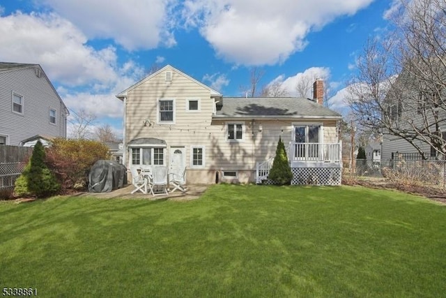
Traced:
[[344, 161], [343, 180], [371, 179], [399, 184], [446, 188], [446, 161], [407, 160], [395, 158], [387, 161], [357, 159]]

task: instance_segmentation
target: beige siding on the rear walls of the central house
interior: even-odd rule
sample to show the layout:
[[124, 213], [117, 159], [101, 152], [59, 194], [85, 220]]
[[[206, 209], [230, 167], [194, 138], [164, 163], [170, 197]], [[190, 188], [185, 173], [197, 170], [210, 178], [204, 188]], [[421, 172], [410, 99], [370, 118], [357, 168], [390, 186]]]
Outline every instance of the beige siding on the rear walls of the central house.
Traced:
[[[155, 137], [167, 143], [164, 161], [169, 166], [169, 148], [185, 147], [188, 183], [213, 183], [215, 174], [238, 171], [237, 181], [254, 181], [256, 163], [275, 156], [279, 136], [287, 150], [291, 142], [292, 124], [318, 122], [323, 124], [324, 142], [337, 140], [336, 121], [296, 121], [295, 119], [213, 119], [214, 99], [210, 91], [183, 75], [172, 72], [171, 82], [165, 82], [165, 72], [142, 82], [128, 91], [126, 117], [126, 143], [140, 137]], [[157, 100], [175, 102], [174, 124], [160, 124], [157, 119]], [[199, 111], [187, 111], [188, 100], [199, 100]], [[144, 122], [148, 124], [144, 126]], [[150, 125], [149, 125], [150, 123]], [[227, 124], [243, 123], [243, 140], [227, 140]], [[262, 130], [259, 131], [259, 125]], [[203, 147], [204, 166], [192, 167], [192, 147]], [[130, 165], [128, 154], [127, 164]]]

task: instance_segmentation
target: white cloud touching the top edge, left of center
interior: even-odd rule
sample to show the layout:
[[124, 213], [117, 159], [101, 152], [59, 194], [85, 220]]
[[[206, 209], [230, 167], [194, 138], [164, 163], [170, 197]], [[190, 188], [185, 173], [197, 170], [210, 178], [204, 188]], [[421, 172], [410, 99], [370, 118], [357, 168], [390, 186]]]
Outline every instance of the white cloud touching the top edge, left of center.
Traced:
[[82, 29], [86, 36], [113, 38], [127, 50], [146, 50], [176, 44], [169, 6], [159, 0], [40, 0]]

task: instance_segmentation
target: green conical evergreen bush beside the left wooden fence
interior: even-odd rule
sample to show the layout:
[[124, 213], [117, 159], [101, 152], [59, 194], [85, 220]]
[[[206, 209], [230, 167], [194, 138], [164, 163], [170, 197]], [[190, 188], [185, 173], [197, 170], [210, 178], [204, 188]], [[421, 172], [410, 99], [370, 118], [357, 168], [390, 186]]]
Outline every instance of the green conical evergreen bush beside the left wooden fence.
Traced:
[[61, 186], [45, 164], [45, 148], [38, 141], [24, 171], [15, 181], [15, 194], [18, 196], [35, 195], [45, 198], [59, 193]]

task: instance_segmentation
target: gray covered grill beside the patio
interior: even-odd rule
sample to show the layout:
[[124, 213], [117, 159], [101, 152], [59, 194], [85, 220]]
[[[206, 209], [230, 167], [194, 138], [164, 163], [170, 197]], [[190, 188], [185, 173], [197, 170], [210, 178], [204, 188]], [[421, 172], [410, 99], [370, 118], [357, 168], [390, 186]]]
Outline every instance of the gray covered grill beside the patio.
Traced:
[[127, 169], [116, 161], [96, 161], [89, 173], [90, 193], [109, 193], [127, 184]]

